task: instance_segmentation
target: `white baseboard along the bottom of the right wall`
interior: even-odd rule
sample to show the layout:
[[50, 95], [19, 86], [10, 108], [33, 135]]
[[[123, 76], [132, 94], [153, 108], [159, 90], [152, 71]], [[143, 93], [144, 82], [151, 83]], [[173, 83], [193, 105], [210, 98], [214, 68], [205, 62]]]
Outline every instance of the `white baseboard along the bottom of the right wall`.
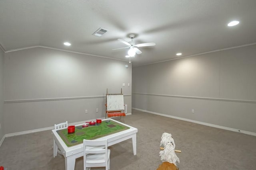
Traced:
[[179, 120], [189, 121], [189, 122], [197, 123], [197, 124], [200, 124], [200, 125], [206, 125], [206, 126], [210, 126], [210, 127], [216, 127], [216, 128], [219, 128], [219, 129], [228, 130], [228, 131], [234, 131], [234, 132], [238, 132], [238, 133], [244, 133], [244, 134], [246, 134], [246, 135], [256, 136], [256, 133], [254, 133], [254, 132], [243, 131], [243, 130], [239, 130], [239, 129], [233, 129], [233, 128], [230, 128], [230, 127], [224, 127], [224, 126], [214, 125], [214, 124], [210, 124], [210, 123], [204, 123], [204, 122], [201, 122], [201, 121], [195, 121], [195, 120], [185, 119], [185, 118], [182, 118], [182, 117], [176, 117], [176, 116], [172, 116], [172, 115], [166, 115], [166, 114], [157, 113], [157, 112], [148, 111], [148, 110], [143, 110], [143, 109], [138, 109], [138, 108], [134, 108], [134, 107], [132, 107], [132, 109], [134, 109], [134, 110], [139, 110], [139, 111], [144, 111], [144, 112], [147, 112], [147, 113], [152, 113], [152, 114], [155, 114], [155, 115], [161, 115], [161, 116], [164, 116], [164, 117], [170, 117], [170, 118], [173, 118], [173, 119], [179, 119]]

